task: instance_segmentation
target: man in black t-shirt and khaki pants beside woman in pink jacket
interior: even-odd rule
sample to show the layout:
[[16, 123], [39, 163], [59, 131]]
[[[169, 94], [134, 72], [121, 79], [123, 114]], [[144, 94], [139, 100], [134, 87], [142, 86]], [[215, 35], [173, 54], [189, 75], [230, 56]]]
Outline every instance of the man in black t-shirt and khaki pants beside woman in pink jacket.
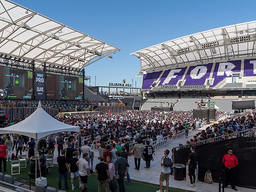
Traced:
[[108, 171], [108, 164], [104, 163], [104, 157], [100, 156], [100, 163], [95, 167], [95, 174], [98, 173], [98, 192], [102, 191], [102, 184], [106, 192], [109, 192], [108, 182], [110, 181], [110, 174]]

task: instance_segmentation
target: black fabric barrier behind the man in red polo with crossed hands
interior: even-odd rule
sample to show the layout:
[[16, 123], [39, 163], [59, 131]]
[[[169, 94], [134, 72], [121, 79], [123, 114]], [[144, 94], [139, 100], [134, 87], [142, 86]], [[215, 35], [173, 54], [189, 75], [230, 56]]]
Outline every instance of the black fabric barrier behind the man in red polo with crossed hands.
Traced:
[[[238, 137], [196, 146], [198, 180], [204, 181], [204, 175], [210, 169], [213, 181], [219, 182], [219, 178], [222, 178], [222, 158], [228, 154], [229, 148], [233, 149], [239, 164], [236, 167], [236, 186], [256, 189], [253, 179], [256, 171], [256, 138], [253, 137]], [[175, 163], [186, 164], [189, 154], [190, 148], [174, 151]], [[185, 177], [185, 169], [183, 174]]]

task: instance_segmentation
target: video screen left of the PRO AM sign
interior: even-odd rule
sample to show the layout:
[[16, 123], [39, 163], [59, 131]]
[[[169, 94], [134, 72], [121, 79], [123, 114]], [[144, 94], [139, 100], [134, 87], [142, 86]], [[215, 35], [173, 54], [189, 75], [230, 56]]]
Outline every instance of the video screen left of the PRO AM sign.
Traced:
[[33, 72], [0, 66], [0, 99], [32, 99]]

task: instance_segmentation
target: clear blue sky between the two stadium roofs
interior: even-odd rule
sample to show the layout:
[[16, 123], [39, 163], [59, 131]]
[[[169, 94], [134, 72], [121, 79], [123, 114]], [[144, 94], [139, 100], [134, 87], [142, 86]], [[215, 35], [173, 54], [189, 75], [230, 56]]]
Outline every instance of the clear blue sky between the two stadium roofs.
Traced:
[[134, 77], [140, 60], [130, 53], [213, 28], [255, 20], [256, 1], [14, 0], [29, 9], [121, 49], [85, 68], [91, 85], [108, 85]]

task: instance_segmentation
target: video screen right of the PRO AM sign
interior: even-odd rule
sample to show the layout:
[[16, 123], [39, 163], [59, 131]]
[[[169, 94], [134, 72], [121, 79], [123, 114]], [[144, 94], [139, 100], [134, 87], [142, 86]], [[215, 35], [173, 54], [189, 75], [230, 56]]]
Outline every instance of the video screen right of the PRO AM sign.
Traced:
[[83, 100], [83, 77], [47, 73], [46, 100]]

